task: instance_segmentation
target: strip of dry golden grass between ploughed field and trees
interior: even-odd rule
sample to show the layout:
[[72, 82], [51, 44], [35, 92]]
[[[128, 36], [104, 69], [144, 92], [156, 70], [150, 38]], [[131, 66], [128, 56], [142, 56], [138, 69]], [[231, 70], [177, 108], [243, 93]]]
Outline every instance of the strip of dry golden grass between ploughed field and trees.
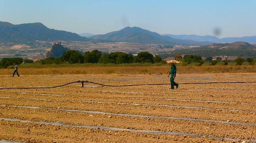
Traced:
[[[42, 74], [167, 74], [170, 66], [149, 67], [48, 67], [19, 68], [21, 75]], [[13, 69], [0, 69], [0, 75], [11, 75]], [[177, 66], [178, 74], [255, 73], [256, 66]]]

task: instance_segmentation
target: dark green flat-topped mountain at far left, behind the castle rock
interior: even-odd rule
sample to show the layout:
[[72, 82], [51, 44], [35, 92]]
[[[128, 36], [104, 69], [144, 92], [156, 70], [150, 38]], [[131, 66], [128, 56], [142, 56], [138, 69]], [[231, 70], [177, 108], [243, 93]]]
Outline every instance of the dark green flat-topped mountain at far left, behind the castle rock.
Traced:
[[35, 40], [86, 41], [88, 38], [81, 37], [72, 32], [49, 29], [38, 22], [18, 25], [9, 22], [0, 22], [0, 40], [8, 42], [32, 42]]

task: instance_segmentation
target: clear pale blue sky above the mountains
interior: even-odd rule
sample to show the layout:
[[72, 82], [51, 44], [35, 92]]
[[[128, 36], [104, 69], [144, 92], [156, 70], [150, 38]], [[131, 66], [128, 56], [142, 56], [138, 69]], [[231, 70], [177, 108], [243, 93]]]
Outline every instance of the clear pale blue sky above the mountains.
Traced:
[[78, 34], [137, 26], [159, 34], [256, 35], [256, 0], [0, 0], [0, 21]]

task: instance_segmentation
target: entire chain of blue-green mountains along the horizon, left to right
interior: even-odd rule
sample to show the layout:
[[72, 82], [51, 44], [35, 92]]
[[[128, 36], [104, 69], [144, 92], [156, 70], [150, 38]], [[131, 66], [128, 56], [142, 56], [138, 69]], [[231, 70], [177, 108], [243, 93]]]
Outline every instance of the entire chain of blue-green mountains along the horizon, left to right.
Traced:
[[[90, 37], [90, 38], [87, 38]], [[76, 34], [63, 30], [49, 29], [42, 23], [11, 24], [0, 22], [0, 42], [26, 42], [40, 41], [92, 41], [92, 42], [130, 42], [142, 44], [170, 44], [170, 45], [209, 45], [213, 43], [248, 42], [256, 44], [256, 36], [217, 38], [211, 35], [160, 35], [156, 32], [140, 27], [125, 27], [121, 30], [107, 34], [93, 35], [90, 33]]]

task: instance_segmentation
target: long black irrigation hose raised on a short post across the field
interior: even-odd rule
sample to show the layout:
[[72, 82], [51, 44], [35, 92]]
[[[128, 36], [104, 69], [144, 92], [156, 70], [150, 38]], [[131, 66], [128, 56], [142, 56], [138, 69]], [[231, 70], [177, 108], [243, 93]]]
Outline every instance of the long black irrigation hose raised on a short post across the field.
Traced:
[[[187, 82], [187, 83], [179, 83], [179, 84], [216, 84], [216, 83], [255, 83], [256, 81], [240, 81], [240, 82]], [[50, 86], [50, 87], [5, 87], [5, 88], [0, 88], [0, 89], [44, 89], [44, 88], [57, 88], [57, 87], [62, 87], [66, 86], [69, 84], [73, 83], [82, 83], [82, 87], [84, 87], [84, 83], [92, 83], [92, 84], [97, 84], [100, 86], [111, 86], [111, 87], [124, 87], [124, 86], [143, 86], [143, 85], [169, 85], [170, 83], [155, 83], [155, 84], [128, 84], [128, 85], [107, 85], [107, 84], [101, 84], [97, 82], [92, 82], [92, 81], [73, 81], [73, 82], [68, 82], [66, 84], [62, 84], [59, 86]]]

